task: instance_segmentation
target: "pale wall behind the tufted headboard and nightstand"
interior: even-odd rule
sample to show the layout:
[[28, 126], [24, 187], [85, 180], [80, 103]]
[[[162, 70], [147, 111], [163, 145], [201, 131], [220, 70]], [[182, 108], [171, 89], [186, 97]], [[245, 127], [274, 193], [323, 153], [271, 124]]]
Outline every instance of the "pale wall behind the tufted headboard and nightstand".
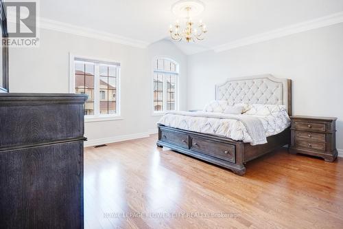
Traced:
[[293, 114], [334, 116], [343, 149], [343, 23], [188, 59], [188, 108], [214, 99], [226, 78], [270, 73], [293, 80]]

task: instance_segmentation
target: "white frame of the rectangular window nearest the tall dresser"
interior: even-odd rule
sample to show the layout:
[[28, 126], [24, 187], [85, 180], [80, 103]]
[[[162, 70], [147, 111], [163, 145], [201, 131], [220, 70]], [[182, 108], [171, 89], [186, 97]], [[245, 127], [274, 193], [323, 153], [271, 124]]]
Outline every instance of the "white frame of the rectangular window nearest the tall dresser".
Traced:
[[[84, 116], [84, 122], [98, 122], [98, 121], [108, 121], [108, 120], [122, 120], [121, 117], [121, 64], [119, 61], [104, 60], [103, 58], [79, 56], [69, 53], [69, 93], [75, 93], [75, 61], [85, 61], [90, 63], [97, 63], [94, 68], [94, 115]], [[116, 113], [115, 114], [100, 114], [100, 86], [99, 86], [99, 65], [117, 65], [116, 69]], [[98, 66], [98, 67], [96, 67]], [[97, 75], [97, 76], [96, 76]]]

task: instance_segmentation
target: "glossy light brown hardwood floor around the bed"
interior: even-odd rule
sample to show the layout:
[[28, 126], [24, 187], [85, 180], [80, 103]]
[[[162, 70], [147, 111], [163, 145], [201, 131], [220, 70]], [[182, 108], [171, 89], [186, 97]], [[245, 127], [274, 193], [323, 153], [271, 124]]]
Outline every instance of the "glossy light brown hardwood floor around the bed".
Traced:
[[342, 158], [280, 149], [240, 177], [156, 140], [85, 149], [85, 228], [343, 228]]

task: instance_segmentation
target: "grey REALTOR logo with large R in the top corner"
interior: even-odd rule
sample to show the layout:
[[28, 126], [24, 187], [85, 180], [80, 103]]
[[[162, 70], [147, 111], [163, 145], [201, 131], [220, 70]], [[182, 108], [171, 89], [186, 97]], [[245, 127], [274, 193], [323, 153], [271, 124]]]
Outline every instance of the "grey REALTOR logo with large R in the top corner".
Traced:
[[3, 45], [38, 47], [37, 2], [5, 1], [3, 10], [7, 18], [8, 32], [8, 39], [3, 39]]

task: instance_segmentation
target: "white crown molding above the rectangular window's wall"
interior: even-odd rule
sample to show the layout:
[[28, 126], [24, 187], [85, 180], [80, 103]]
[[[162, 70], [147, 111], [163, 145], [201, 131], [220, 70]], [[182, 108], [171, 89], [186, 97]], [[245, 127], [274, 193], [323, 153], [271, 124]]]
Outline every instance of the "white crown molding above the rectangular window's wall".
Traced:
[[67, 34], [74, 34], [78, 36], [86, 36], [92, 39], [98, 39], [102, 41], [110, 41], [113, 43], [119, 43], [122, 45], [129, 45], [132, 47], [145, 48], [149, 43], [139, 40], [130, 39], [125, 36], [119, 36], [109, 32], [102, 32], [99, 30], [93, 30], [90, 28], [84, 28], [77, 25], [71, 25], [69, 23], [62, 23], [60, 21], [54, 21], [40, 17], [38, 23], [39, 28], [54, 30], [57, 32], [64, 32]]

